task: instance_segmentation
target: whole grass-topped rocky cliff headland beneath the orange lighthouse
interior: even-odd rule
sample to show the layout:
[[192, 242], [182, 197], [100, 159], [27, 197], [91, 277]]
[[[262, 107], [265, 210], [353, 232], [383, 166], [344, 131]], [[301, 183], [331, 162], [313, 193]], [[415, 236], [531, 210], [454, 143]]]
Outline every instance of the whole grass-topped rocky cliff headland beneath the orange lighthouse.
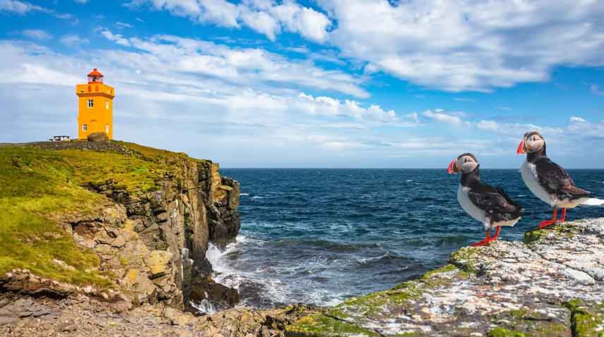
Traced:
[[239, 229], [239, 185], [218, 164], [125, 142], [0, 147], [0, 287], [116, 305], [219, 307], [208, 243]]

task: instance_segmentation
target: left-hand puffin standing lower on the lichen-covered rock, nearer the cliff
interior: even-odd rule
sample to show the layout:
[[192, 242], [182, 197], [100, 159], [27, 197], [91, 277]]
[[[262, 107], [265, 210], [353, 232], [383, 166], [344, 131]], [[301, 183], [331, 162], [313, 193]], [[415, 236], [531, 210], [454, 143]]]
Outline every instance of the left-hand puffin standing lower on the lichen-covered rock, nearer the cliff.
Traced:
[[[494, 188], [481, 181], [478, 159], [471, 153], [464, 153], [453, 159], [447, 173], [461, 173], [457, 189], [457, 200], [461, 208], [485, 226], [485, 239], [472, 246], [484, 246], [497, 240], [501, 226], [514, 226], [523, 213], [521, 205], [514, 202], [503, 188]], [[495, 236], [490, 233], [497, 228]]]

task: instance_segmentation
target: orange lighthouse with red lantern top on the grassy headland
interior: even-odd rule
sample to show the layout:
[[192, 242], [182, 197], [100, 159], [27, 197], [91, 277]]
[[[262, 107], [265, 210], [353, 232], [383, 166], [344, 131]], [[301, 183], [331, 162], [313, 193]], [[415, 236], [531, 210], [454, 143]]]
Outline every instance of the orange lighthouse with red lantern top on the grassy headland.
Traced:
[[106, 133], [113, 139], [114, 87], [103, 83], [103, 74], [94, 68], [88, 74], [88, 83], [75, 85], [78, 95], [78, 138], [84, 140], [91, 133]]

